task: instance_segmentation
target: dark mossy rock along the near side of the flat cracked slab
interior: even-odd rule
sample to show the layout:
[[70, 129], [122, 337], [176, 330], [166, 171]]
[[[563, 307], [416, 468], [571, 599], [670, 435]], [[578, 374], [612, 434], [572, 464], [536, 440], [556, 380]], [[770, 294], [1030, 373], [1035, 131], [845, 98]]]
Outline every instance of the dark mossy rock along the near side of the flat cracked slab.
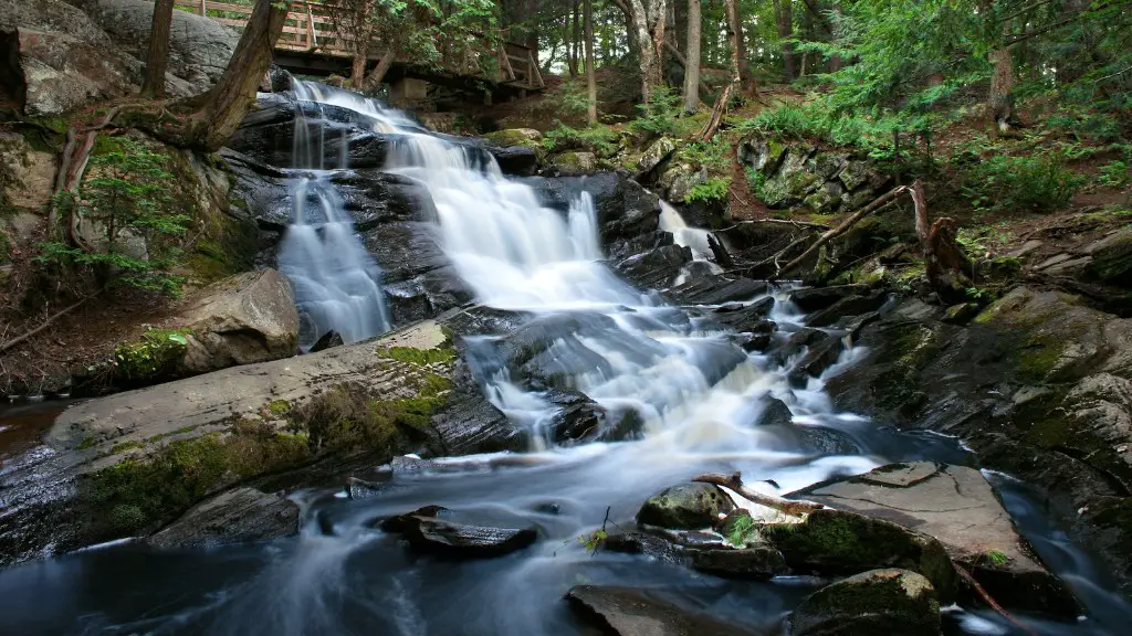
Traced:
[[910, 569], [927, 577], [941, 600], [955, 598], [958, 575], [943, 544], [886, 519], [821, 509], [800, 524], [765, 525], [761, 534], [795, 569], [823, 574]]

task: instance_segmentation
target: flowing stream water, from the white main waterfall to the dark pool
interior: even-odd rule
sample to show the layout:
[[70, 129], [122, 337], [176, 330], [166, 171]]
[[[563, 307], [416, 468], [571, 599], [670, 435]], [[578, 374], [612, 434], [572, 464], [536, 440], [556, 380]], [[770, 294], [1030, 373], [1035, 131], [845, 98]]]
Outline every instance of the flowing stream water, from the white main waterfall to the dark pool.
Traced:
[[[418, 179], [430, 192], [443, 248], [477, 300], [574, 320], [550, 347], [549, 363], [603, 406], [635, 411], [643, 421], [640, 439], [555, 447], [546, 430], [555, 413], [548, 395], [512, 377], [496, 338], [472, 337], [470, 361], [486, 394], [513, 421], [534, 429], [535, 452], [441, 459], [423, 472], [395, 474], [379, 495], [365, 499], [301, 492], [297, 499], [306, 522], [301, 535], [289, 540], [187, 553], [114, 545], [15, 568], [0, 575], [0, 598], [20, 610], [0, 614], [0, 631], [589, 634], [561, 596], [573, 585], [594, 583], [654, 588], [694, 611], [778, 634], [786, 612], [817, 582], [729, 582], [638, 557], [592, 555], [578, 538], [600, 527], [607, 515], [614, 522], [632, 518], [650, 493], [702, 472], [741, 471], [751, 481], [773, 479], [784, 492], [890, 461], [967, 459], [955, 440], [901, 433], [834, 412], [822, 379], [791, 388], [786, 380], [790, 361], [748, 355], [719, 327], [618, 278], [601, 260], [588, 195], [563, 214], [541, 205], [526, 184], [501, 177], [492, 162], [395, 112], [325, 87], [301, 85], [299, 92], [370, 114], [376, 129], [401, 134], [387, 170]], [[376, 266], [360, 257], [361, 270], [349, 269], [329, 249], [327, 224], [343, 224], [340, 246], [350, 243], [352, 232], [348, 220], [332, 220], [341, 205], [326, 174], [312, 171], [299, 180], [297, 188], [310, 196], [297, 200], [325, 201], [325, 218], [316, 227], [297, 204], [289, 234], [301, 244], [290, 248], [286, 263], [310, 281], [300, 303], [320, 316], [316, 323], [325, 320], [319, 325], [345, 334], [344, 323], [336, 320], [361, 318], [362, 306], [342, 299], [368, 299], [371, 287], [359, 277], [376, 287], [378, 278], [370, 275]], [[664, 209], [663, 223], [703, 257], [703, 235], [686, 227], [674, 209]], [[295, 232], [303, 227], [311, 229], [309, 235]], [[355, 280], [341, 281], [341, 275]], [[803, 325], [805, 317], [786, 292], [777, 293], [771, 318], [783, 330]], [[311, 309], [320, 303], [333, 310]], [[370, 318], [384, 321], [376, 306], [371, 311]], [[362, 337], [361, 330], [350, 333]], [[860, 353], [850, 350], [829, 373], [843, 371]], [[791, 424], [756, 426], [767, 397], [787, 403]], [[457, 521], [534, 526], [540, 541], [507, 557], [456, 562], [414, 557], [396, 536], [370, 527], [372, 519], [428, 504], [455, 510]], [[1075, 625], [1035, 622], [1032, 629], [1118, 633], [1105, 627], [1100, 613]], [[953, 634], [1012, 633], [994, 616], [953, 609], [946, 617]]]

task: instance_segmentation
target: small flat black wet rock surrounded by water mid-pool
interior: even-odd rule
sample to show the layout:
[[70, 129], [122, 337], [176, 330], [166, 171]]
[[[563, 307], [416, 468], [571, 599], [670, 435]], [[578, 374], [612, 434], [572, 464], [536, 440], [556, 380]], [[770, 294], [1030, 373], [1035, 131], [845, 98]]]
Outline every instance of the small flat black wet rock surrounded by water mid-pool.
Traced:
[[420, 515], [404, 519], [402, 534], [420, 552], [464, 559], [501, 557], [538, 539], [532, 528], [464, 525]]

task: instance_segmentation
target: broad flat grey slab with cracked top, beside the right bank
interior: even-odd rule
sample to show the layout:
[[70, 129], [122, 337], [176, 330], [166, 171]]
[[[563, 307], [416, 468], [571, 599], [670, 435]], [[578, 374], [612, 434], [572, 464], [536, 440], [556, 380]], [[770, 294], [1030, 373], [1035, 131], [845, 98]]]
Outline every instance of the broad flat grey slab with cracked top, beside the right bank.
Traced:
[[934, 536], [1006, 608], [1064, 616], [1080, 611], [1061, 582], [1030, 556], [1010, 514], [974, 469], [890, 464], [799, 495]]

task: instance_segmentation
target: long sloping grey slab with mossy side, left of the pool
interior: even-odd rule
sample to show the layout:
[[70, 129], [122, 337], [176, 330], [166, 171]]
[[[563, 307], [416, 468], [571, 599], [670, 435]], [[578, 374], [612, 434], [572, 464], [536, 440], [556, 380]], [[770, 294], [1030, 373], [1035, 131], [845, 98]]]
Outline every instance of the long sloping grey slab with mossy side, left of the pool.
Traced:
[[44, 437], [50, 453], [0, 475], [0, 562], [147, 535], [205, 493], [282, 473], [325, 483], [408, 453], [522, 449], [447, 343], [429, 320], [75, 404]]

